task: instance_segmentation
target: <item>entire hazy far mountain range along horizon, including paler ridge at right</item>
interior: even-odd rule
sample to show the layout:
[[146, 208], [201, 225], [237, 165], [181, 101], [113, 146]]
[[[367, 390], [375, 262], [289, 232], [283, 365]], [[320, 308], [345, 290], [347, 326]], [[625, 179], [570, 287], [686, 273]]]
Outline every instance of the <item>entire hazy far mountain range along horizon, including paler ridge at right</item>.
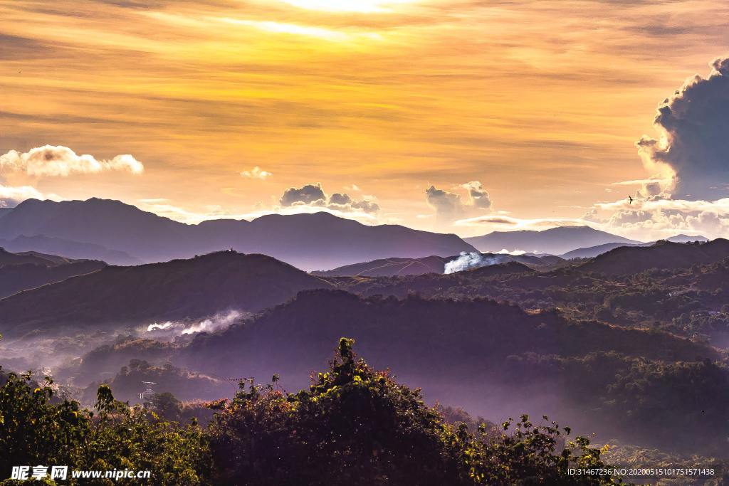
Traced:
[[[705, 238], [677, 235], [669, 240]], [[505, 249], [572, 259], [644, 244], [588, 226], [496, 231], [461, 239], [397, 224], [370, 226], [326, 212], [184, 224], [117, 200], [98, 198], [30, 199], [15, 208], [0, 208], [0, 246], [9, 251], [39, 251], [120, 265], [165, 262], [233, 248], [246, 254], [268, 254], [303, 270], [411, 275], [429, 271], [433, 265], [437, 270], [439, 259], [464, 251], [499, 253]], [[367, 262], [367, 268], [362, 268], [362, 262]], [[354, 264], [357, 266], [347, 268]], [[375, 270], [375, 264], [380, 270]]]

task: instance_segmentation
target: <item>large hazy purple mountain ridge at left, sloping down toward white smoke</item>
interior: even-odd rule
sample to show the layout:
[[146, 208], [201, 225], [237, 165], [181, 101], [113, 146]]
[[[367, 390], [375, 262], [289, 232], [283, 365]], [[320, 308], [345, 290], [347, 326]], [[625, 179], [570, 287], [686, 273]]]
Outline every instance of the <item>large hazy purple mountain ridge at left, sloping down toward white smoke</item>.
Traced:
[[330, 213], [271, 214], [251, 222], [220, 219], [183, 224], [133, 205], [26, 200], [0, 219], [0, 239], [43, 235], [122, 251], [144, 262], [189, 258], [223, 248], [268, 254], [305, 270], [389, 257], [450, 256], [475, 251], [457, 235], [399, 225], [367, 226]]

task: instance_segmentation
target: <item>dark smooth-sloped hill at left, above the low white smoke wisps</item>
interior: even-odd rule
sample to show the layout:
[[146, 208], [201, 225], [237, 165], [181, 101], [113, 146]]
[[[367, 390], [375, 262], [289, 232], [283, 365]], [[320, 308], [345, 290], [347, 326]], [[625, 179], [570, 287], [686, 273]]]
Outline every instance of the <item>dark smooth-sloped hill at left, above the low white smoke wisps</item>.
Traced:
[[0, 332], [139, 325], [225, 310], [254, 312], [330, 283], [270, 256], [219, 251], [189, 260], [105, 267], [0, 299]]

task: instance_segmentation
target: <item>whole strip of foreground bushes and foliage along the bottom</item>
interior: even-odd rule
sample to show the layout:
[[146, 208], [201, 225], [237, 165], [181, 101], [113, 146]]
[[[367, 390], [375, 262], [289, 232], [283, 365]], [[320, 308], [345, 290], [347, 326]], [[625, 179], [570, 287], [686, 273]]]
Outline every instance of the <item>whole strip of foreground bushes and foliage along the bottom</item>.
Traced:
[[287, 393], [278, 375], [268, 385], [241, 380], [232, 401], [209, 405], [219, 412], [206, 428], [168, 422], [171, 396], [154, 412], [128, 407], [101, 385], [91, 412], [55, 397], [50, 381], [36, 386], [11, 374], [0, 388], [0, 474], [65, 464], [149, 470], [148, 484], [169, 486], [612, 484], [608, 475], [568, 474], [605, 467], [589, 439], [564, 441], [568, 427], [526, 415], [477, 431], [448, 424], [419, 391], [356, 358], [351, 344], [340, 340], [308, 390]]

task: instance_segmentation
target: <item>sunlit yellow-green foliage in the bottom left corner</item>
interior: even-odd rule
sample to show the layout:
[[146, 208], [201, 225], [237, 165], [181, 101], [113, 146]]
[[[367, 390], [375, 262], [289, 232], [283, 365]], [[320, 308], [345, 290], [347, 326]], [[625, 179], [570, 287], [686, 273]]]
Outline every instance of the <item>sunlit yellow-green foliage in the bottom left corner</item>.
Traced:
[[[98, 389], [96, 414], [76, 401], [53, 399], [52, 381], [36, 385], [30, 375], [9, 374], [0, 388], [0, 474], [12, 466], [69, 466], [69, 469], [152, 471], [152, 485], [209, 484], [210, 457], [199, 426], [160, 420], [140, 407]], [[93, 482], [97, 481], [97, 482]], [[110, 484], [85, 479], [83, 484]], [[117, 485], [139, 484], [120, 479]]]

